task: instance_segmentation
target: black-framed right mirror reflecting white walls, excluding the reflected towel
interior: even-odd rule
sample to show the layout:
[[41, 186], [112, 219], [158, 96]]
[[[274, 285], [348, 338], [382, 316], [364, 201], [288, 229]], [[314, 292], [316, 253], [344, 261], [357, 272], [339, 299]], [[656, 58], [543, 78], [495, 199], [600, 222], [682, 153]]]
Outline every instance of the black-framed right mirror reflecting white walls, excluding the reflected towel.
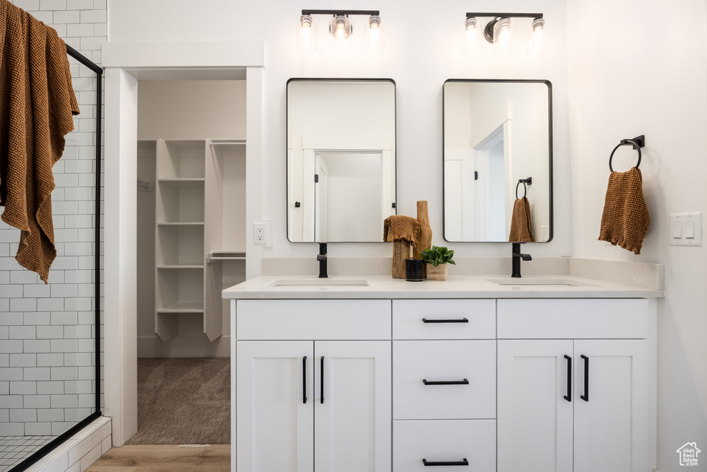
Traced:
[[443, 120], [445, 240], [508, 241], [518, 180], [531, 177], [526, 196], [534, 241], [550, 241], [550, 82], [450, 79]]

